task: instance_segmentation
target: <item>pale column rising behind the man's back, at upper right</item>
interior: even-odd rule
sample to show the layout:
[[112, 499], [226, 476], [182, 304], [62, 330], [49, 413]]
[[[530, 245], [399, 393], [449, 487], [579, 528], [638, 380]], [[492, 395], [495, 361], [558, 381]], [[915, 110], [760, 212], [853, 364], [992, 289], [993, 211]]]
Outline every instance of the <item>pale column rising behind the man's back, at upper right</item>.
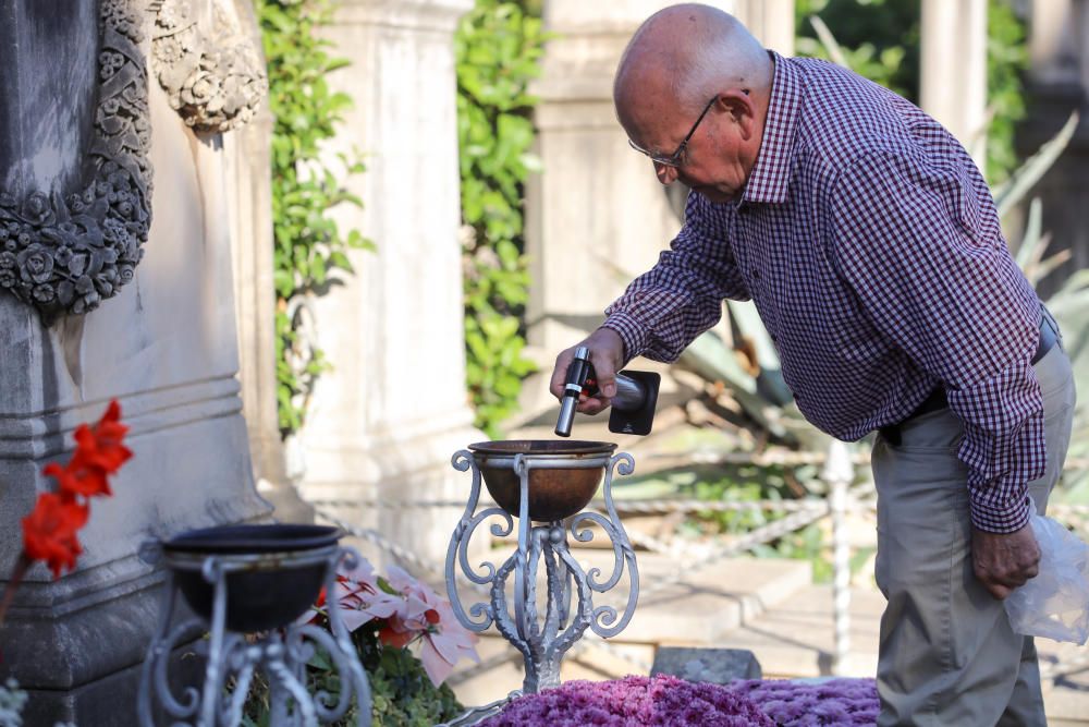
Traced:
[[919, 106], [987, 162], [987, 0], [922, 0]]

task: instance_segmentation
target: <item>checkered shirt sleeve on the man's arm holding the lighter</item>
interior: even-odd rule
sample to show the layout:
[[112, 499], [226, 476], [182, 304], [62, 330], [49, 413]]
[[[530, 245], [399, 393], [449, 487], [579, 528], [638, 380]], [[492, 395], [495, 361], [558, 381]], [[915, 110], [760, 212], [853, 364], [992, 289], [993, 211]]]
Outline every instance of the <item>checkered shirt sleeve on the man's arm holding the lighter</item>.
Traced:
[[689, 193], [685, 223], [670, 250], [605, 308], [602, 325], [624, 341], [625, 360], [676, 361], [722, 317], [723, 299], [748, 300], [723, 217], [702, 195]]

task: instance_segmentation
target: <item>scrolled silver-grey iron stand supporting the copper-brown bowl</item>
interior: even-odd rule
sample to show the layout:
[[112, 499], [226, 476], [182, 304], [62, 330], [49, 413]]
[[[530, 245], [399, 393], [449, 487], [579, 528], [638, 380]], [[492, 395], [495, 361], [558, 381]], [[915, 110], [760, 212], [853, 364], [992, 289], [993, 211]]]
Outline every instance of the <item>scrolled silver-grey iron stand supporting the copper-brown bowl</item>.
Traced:
[[[473, 631], [484, 631], [492, 623], [503, 637], [522, 652], [525, 661], [526, 678], [524, 692], [538, 692], [560, 684], [560, 663], [564, 654], [583, 635], [587, 628], [602, 638], [613, 637], [627, 626], [639, 597], [639, 573], [635, 562], [635, 552], [621, 524], [612, 499], [614, 469], [622, 475], [635, 471], [635, 460], [631, 455], [610, 457], [558, 458], [535, 457], [533, 453], [517, 453], [507, 458], [489, 459], [489, 467], [510, 467], [521, 482], [518, 512], [507, 512], [491, 507], [476, 512], [480, 497], [480, 467], [473, 452], [461, 450], [452, 458], [454, 469], [465, 472], [473, 470], [473, 489], [461, 521], [454, 529], [446, 550], [446, 593], [457, 619]], [[604, 493], [608, 517], [592, 510], [585, 510], [567, 520], [533, 524], [529, 518], [529, 475], [535, 469], [572, 470], [584, 468], [604, 469]], [[505, 519], [504, 523], [492, 523], [491, 533], [504, 537], [514, 531], [514, 518], [518, 518], [518, 548], [497, 569], [492, 562], [482, 562], [479, 570], [468, 561], [467, 547], [477, 526], [490, 517]], [[599, 525], [612, 543], [614, 565], [608, 579], [600, 579], [600, 570], [584, 570], [567, 547], [570, 533], [579, 543], [594, 537], [589, 523]], [[541, 560], [544, 561], [547, 593], [543, 594], [544, 615], [540, 616], [537, 592], [537, 574]], [[611, 606], [594, 606], [594, 594], [604, 593], [615, 586], [628, 570], [629, 590], [627, 603], [620, 616]], [[489, 603], [476, 603], [466, 613], [462, 606], [455, 581], [455, 565], [473, 583], [489, 586]], [[514, 573], [514, 613], [512, 615], [506, 598], [507, 580]], [[572, 598], [575, 598], [574, 608]]]

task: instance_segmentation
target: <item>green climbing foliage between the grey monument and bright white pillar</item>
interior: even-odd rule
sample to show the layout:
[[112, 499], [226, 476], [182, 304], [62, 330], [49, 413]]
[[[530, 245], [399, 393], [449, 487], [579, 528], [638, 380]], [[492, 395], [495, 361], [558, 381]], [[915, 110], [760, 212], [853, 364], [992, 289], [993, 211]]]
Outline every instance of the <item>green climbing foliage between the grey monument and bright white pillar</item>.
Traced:
[[348, 249], [371, 243], [356, 230], [341, 231], [328, 211], [363, 201], [343, 187], [345, 174], [363, 171], [340, 156], [333, 167], [320, 155], [337, 133], [352, 99], [333, 93], [327, 74], [347, 65], [326, 52], [316, 28], [328, 24], [334, 0], [256, 0], [269, 72], [272, 130], [272, 231], [276, 284], [277, 404], [280, 433], [297, 431], [314, 383], [330, 363], [309, 337], [306, 296], [319, 292], [334, 269], [352, 271]]

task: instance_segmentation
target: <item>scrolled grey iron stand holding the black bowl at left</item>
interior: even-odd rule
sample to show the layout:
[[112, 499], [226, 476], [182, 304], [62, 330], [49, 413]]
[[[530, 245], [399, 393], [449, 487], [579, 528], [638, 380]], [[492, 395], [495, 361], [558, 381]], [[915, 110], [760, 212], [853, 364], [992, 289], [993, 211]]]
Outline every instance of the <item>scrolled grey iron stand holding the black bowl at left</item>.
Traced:
[[[274, 555], [272, 567], [298, 568], [327, 562], [326, 593], [333, 593], [337, 564], [344, 560], [351, 567], [359, 557], [354, 549], [335, 545]], [[292, 623], [259, 635], [230, 631], [227, 629], [228, 575], [252, 571], [262, 565], [268, 567], [269, 554], [168, 554], [166, 557], [171, 569], [199, 572], [211, 584], [212, 615], [210, 623], [204, 619], [189, 619], [171, 629], [179, 587], [173, 570], [167, 571], [159, 629], [140, 674], [138, 710], [142, 727], [155, 725], [152, 704], [156, 698], [171, 717], [172, 727], [241, 724], [243, 704], [255, 668], [262, 669], [268, 678], [271, 724], [277, 727], [316, 727], [319, 720], [339, 719], [347, 712], [353, 694], [359, 707], [358, 724], [370, 725], [370, 688], [339, 609], [328, 609], [332, 634], [309, 623]], [[198, 692], [196, 688], [187, 687], [180, 698], [175, 696], [168, 675], [171, 653], [201, 627], [210, 630], [209, 638], [198, 641], [194, 647], [200, 656], [207, 657], [203, 689]], [[341, 691], [333, 704], [330, 704], [333, 700], [329, 694], [318, 692], [311, 695], [306, 688], [306, 663], [318, 647], [330, 656], [340, 675]]]

